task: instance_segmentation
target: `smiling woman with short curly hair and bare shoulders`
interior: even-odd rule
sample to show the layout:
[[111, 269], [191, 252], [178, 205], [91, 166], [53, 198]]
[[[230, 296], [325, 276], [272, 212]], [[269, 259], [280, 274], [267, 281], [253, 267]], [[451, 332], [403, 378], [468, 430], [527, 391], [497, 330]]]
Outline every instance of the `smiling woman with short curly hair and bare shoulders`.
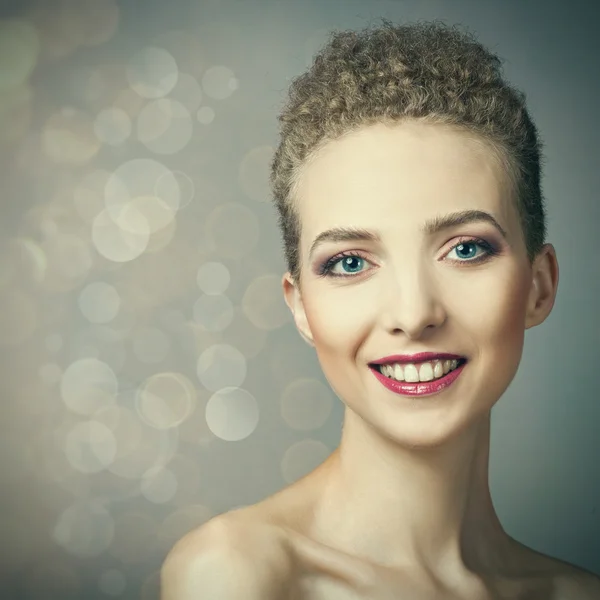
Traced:
[[491, 409], [558, 287], [524, 95], [470, 34], [384, 20], [334, 33], [280, 121], [284, 297], [341, 443], [186, 536], [163, 598], [600, 598], [504, 531], [488, 485]]

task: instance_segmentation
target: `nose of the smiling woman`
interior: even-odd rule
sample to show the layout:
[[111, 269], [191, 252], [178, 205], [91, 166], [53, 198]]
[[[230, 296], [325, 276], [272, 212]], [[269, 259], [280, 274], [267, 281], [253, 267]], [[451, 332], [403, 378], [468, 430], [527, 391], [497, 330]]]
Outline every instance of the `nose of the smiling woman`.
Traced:
[[382, 294], [380, 322], [390, 333], [418, 339], [428, 328], [439, 328], [446, 320], [442, 292], [426, 268], [390, 271]]

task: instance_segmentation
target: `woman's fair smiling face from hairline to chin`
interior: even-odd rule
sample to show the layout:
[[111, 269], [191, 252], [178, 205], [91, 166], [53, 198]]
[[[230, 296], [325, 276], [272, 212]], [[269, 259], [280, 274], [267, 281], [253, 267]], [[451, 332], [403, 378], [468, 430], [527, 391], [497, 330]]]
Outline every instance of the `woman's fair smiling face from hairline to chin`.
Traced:
[[[302, 174], [302, 293], [286, 274], [286, 302], [336, 394], [407, 445], [440, 443], [489, 411], [518, 369], [525, 329], [546, 316], [528, 317], [537, 286], [488, 152], [441, 127], [377, 124], [330, 142]], [[424, 229], [461, 211], [491, 215], [504, 234], [491, 220]], [[379, 239], [313, 246], [344, 227]], [[422, 398], [389, 391], [369, 367], [422, 351], [468, 363], [453, 385]]]

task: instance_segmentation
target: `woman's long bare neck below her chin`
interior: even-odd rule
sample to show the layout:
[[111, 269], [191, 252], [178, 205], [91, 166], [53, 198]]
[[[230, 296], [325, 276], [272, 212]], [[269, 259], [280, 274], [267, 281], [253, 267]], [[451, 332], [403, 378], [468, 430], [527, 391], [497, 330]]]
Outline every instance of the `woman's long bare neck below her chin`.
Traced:
[[346, 409], [324, 463], [314, 535], [385, 567], [495, 573], [514, 542], [488, 485], [490, 414], [435, 448], [403, 448]]

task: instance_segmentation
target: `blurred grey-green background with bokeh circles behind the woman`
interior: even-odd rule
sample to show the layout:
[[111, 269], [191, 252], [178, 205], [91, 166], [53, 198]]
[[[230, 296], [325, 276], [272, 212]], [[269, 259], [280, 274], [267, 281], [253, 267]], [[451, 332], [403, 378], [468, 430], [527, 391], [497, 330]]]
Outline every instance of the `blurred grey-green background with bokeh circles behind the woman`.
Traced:
[[494, 408], [491, 486], [511, 535], [600, 574], [599, 3], [0, 10], [2, 598], [157, 599], [177, 539], [337, 446], [268, 166], [290, 78], [380, 17], [462, 23], [527, 94], [560, 289]]

